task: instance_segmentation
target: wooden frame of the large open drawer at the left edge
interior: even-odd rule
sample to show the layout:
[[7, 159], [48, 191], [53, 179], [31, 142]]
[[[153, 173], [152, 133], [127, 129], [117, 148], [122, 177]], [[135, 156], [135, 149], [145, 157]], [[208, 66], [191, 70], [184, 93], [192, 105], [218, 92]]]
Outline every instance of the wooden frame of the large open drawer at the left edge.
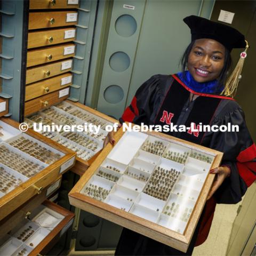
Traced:
[[[13, 121], [10, 118], [2, 118], [1, 121], [15, 127], [16, 129], [19, 129], [19, 123]], [[39, 141], [46, 143], [47, 145], [50, 145], [51, 147], [61, 151], [66, 155], [61, 157], [55, 163], [47, 166], [45, 169], [43, 169], [41, 172], [28, 179], [26, 182], [22, 183], [19, 187], [13, 189], [9, 193], [1, 197], [0, 221], [4, 219], [7, 215], [9, 215], [11, 212], [16, 210], [18, 207], [20, 207], [22, 204], [26, 203], [30, 198], [40, 193], [42, 188], [49, 186], [59, 177], [61, 173], [65, 173], [75, 164], [76, 153], [74, 153], [73, 151], [59, 145], [58, 143], [48, 138], [45, 138], [43, 135], [31, 129], [28, 129], [26, 134], [30, 135], [31, 137], [34, 137]], [[63, 164], [66, 164], [68, 161], [70, 161], [70, 166], [60, 173], [61, 166]]]

